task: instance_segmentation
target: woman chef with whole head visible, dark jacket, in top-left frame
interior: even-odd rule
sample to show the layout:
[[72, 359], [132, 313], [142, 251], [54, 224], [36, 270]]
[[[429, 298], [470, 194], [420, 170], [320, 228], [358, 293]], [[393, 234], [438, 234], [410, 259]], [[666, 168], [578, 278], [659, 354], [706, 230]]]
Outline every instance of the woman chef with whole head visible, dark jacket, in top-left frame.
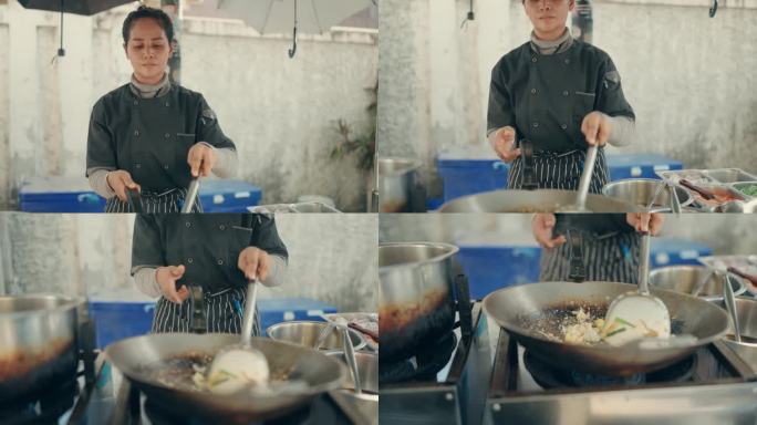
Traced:
[[[169, 81], [168, 15], [142, 6], [126, 17], [122, 32], [134, 73], [92, 110], [86, 175], [107, 199], [107, 212], [132, 210], [127, 189], [142, 191], [146, 212], [178, 212], [193, 177], [236, 174], [235, 145], [201, 94]], [[201, 210], [198, 201], [193, 210]]]

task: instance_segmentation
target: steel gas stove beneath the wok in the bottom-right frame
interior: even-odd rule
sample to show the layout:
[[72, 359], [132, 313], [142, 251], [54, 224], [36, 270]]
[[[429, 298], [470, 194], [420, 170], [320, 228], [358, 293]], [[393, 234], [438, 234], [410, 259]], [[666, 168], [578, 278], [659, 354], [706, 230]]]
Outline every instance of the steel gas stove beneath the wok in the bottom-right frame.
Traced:
[[618, 379], [566, 371], [499, 332], [485, 424], [755, 424], [755, 372], [722, 342]]

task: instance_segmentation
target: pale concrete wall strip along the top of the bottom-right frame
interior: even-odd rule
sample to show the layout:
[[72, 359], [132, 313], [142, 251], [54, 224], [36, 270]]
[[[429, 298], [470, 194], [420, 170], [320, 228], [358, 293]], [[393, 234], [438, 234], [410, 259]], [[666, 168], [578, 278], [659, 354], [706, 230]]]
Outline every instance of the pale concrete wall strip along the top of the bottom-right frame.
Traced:
[[[757, 253], [757, 215], [666, 215], [660, 236], [697, 241], [716, 255], [753, 255]], [[536, 246], [528, 214], [383, 215], [378, 232], [382, 242], [455, 243], [471, 237], [478, 243]]]

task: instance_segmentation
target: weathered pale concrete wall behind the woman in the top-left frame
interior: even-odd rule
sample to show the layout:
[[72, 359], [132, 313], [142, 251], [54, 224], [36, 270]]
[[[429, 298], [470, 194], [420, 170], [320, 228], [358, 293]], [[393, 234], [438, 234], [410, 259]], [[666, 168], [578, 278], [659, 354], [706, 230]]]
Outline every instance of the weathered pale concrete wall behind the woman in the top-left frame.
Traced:
[[[0, 208], [13, 206], [19, 182], [83, 176], [94, 102], [124, 84], [131, 66], [121, 25], [133, 7], [93, 18], [66, 14], [66, 54], [55, 61], [59, 17], [0, 6]], [[182, 83], [201, 92], [239, 152], [239, 178], [263, 190], [262, 203], [301, 195], [333, 198], [364, 210], [366, 173], [353, 158], [329, 159], [336, 121], [355, 135], [370, 128], [366, 107], [376, 81], [375, 32], [341, 30], [299, 37], [287, 55], [284, 35], [261, 37], [229, 20], [187, 19]]]

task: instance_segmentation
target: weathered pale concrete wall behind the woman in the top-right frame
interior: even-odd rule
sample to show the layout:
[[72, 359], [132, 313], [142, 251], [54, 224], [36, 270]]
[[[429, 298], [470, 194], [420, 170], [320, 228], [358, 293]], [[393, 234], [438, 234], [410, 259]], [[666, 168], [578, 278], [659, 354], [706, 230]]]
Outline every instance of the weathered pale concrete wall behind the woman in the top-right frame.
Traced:
[[[757, 172], [757, 2], [594, 1], [593, 43], [612, 56], [637, 115], [637, 139], [614, 153], [659, 153], [688, 167]], [[678, 6], [675, 6], [678, 4]], [[380, 4], [378, 149], [435, 172], [452, 146], [485, 144], [490, 71], [528, 40], [519, 0]]]

